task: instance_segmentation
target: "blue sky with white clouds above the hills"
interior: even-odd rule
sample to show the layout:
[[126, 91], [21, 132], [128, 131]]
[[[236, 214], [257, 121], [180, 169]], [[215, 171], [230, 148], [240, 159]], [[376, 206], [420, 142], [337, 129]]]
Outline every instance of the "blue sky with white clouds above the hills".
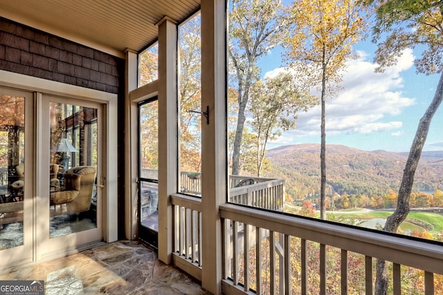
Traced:
[[[417, 50], [406, 50], [397, 65], [375, 73], [375, 49], [370, 41], [354, 46], [359, 59], [347, 62], [341, 91], [326, 101], [326, 143], [364, 151], [408, 152], [440, 75], [416, 73], [413, 61], [420, 55]], [[262, 77], [282, 70], [278, 67], [280, 56], [281, 50], [276, 49], [259, 61]], [[433, 117], [424, 151], [443, 151], [442, 108]], [[267, 147], [302, 143], [320, 143], [320, 105], [298, 113], [296, 129]]]

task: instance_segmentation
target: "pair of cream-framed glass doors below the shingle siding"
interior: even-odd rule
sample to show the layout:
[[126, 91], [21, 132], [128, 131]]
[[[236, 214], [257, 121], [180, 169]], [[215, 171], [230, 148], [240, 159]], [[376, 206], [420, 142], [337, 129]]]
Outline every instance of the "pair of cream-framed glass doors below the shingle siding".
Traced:
[[0, 267], [103, 240], [102, 116], [95, 102], [0, 87]]

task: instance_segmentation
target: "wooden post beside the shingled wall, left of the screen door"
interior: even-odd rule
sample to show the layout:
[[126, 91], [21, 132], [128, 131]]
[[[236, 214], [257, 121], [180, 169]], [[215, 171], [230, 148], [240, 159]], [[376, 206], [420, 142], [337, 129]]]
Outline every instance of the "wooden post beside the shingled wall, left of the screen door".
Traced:
[[137, 88], [138, 61], [137, 53], [126, 50], [125, 62], [125, 236], [128, 240], [138, 237], [137, 211], [137, 154], [136, 133], [134, 130], [134, 116], [129, 93]]

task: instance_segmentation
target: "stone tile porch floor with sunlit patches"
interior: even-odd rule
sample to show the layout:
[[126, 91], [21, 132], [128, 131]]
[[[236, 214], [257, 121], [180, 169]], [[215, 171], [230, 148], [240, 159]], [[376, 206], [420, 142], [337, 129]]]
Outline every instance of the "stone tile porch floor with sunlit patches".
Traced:
[[141, 242], [129, 240], [30, 265], [0, 280], [44, 280], [46, 295], [210, 294], [177, 267], [157, 260]]

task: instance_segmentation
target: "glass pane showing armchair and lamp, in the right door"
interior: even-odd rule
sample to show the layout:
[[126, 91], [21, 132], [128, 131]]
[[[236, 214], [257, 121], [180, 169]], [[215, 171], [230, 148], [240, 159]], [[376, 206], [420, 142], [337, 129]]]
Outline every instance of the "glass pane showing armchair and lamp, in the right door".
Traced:
[[97, 227], [98, 109], [50, 102], [49, 237]]

